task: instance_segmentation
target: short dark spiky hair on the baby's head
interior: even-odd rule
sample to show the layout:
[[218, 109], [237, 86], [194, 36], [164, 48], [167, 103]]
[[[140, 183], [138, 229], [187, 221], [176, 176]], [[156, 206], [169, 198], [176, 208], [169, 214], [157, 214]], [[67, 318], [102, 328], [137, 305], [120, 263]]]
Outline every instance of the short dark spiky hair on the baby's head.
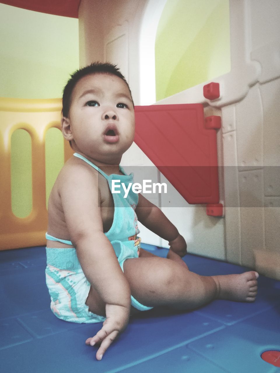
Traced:
[[[67, 84], [65, 85], [63, 89], [63, 96], [62, 96], [62, 115], [64, 117], [68, 117], [69, 115], [71, 95], [77, 82], [84, 76], [94, 74], [94, 73], [104, 73], [104, 74], [112, 74], [112, 75], [118, 76], [127, 84], [127, 87], [131, 95], [131, 90], [129, 88], [128, 82], [126, 81], [122, 73], [119, 71], [119, 68], [116, 67], [116, 65], [113, 65], [112, 63], [109, 63], [109, 62], [104, 62], [104, 63], [93, 62], [91, 63], [91, 65], [78, 69], [73, 74], [71, 74], [71, 78], [68, 80]], [[131, 95], [131, 100], [132, 100], [132, 95]], [[134, 107], [134, 103], [133, 103], [133, 107]]]

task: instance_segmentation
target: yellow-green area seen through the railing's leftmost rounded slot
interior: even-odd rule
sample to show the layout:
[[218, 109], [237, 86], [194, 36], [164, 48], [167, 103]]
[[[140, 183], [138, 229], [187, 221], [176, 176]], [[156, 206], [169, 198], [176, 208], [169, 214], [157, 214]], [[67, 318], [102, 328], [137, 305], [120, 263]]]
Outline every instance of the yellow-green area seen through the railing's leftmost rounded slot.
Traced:
[[17, 217], [27, 217], [32, 210], [31, 137], [17, 129], [11, 137], [12, 211]]

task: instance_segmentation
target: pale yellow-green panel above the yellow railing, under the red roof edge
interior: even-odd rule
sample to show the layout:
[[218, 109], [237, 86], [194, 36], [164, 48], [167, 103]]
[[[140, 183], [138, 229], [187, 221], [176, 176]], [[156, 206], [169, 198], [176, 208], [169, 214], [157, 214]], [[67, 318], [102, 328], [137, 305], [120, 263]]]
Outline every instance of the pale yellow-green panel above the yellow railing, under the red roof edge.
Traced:
[[0, 3], [0, 30], [0, 97], [61, 97], [79, 68], [78, 19]]

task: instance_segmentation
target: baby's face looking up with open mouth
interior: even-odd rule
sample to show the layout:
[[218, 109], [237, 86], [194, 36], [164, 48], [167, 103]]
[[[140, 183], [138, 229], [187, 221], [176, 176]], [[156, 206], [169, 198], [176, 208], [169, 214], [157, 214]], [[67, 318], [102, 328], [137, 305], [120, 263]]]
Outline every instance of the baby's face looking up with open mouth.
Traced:
[[76, 151], [118, 162], [134, 139], [134, 108], [127, 85], [111, 74], [84, 76], [72, 92], [69, 121]]

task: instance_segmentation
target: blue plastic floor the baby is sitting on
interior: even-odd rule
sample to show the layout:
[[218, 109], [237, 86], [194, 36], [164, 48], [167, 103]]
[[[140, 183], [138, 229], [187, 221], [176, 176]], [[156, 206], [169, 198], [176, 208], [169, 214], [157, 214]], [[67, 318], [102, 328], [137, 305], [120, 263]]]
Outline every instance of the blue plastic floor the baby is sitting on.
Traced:
[[[166, 249], [145, 245], [154, 254]], [[188, 254], [200, 275], [241, 273], [245, 268]], [[273, 373], [260, 357], [280, 350], [280, 282], [260, 276], [255, 303], [217, 300], [188, 313], [152, 310], [134, 317], [96, 361], [85, 345], [100, 324], [74, 324], [50, 310], [44, 247], [0, 252], [0, 370], [39, 372]]]

